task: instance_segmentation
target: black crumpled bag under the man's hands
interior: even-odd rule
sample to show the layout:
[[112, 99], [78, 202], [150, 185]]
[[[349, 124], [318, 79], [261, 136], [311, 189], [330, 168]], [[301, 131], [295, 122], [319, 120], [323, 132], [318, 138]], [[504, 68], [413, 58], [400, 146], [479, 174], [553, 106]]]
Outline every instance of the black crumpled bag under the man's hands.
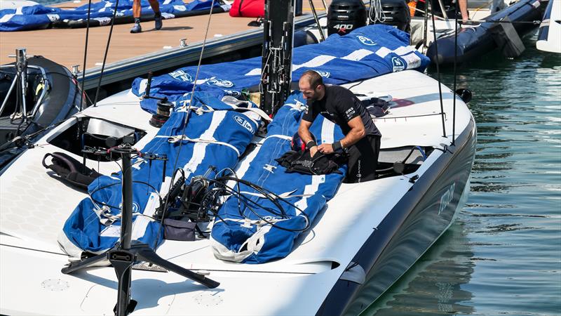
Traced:
[[318, 175], [339, 173], [339, 167], [346, 162], [344, 153], [334, 152], [332, 154], [316, 153], [311, 157], [310, 151], [285, 152], [282, 157], [275, 159], [280, 166], [286, 168], [286, 172], [298, 172], [304, 174]]

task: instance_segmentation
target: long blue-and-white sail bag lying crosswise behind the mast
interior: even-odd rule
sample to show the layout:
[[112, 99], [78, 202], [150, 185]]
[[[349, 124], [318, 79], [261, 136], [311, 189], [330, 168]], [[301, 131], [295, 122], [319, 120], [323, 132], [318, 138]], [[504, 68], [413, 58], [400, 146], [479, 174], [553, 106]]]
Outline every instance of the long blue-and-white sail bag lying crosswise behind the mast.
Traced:
[[[217, 96], [238, 95], [243, 88], [257, 86], [261, 75], [261, 57], [201, 65], [196, 90], [212, 91]], [[388, 25], [361, 27], [341, 37], [332, 34], [320, 44], [294, 49], [292, 80], [298, 81], [306, 70], [316, 70], [327, 84], [377, 77], [400, 70], [423, 71], [430, 60], [409, 46], [409, 34]], [[192, 91], [196, 66], [184, 67], [152, 79], [150, 93], [180, 98]], [[146, 79], [133, 82], [133, 93], [144, 94]], [[144, 110], [154, 112], [154, 100], [143, 100]]]

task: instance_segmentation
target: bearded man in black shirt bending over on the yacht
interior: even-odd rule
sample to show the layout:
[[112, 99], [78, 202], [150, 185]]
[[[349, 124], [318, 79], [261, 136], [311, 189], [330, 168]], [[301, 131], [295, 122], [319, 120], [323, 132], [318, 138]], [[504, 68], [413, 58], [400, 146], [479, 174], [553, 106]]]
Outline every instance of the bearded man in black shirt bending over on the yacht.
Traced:
[[[360, 100], [347, 88], [325, 86], [313, 70], [302, 74], [298, 83], [307, 100], [307, 109], [300, 121], [298, 134], [313, 157], [316, 152], [330, 154], [338, 150], [349, 152], [346, 182], [355, 183], [376, 178], [381, 133]], [[345, 137], [332, 144], [317, 145], [310, 126], [318, 114], [341, 127]]]

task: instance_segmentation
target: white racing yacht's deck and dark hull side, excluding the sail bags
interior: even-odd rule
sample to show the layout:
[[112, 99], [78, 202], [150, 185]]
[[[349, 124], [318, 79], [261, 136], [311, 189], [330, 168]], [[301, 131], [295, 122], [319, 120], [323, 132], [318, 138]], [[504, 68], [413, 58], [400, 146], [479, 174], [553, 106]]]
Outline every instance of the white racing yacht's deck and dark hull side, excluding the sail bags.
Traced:
[[[352, 303], [362, 284], [379, 279], [377, 291], [382, 294], [438, 239], [468, 192], [475, 153], [471, 112], [457, 98], [456, 144], [450, 145], [454, 94], [445, 86], [447, 134], [443, 137], [435, 80], [405, 71], [354, 85], [349, 84], [353, 91], [375, 88], [403, 105], [375, 119], [384, 135], [379, 161], [403, 160], [413, 145], [426, 148], [426, 159], [419, 154], [410, 158], [411, 173], [342, 184], [301, 243], [278, 261], [230, 263], [213, 256], [208, 239], [166, 241], [158, 248], [160, 256], [202, 272], [220, 285], [207, 289], [170, 272], [135, 270], [132, 291], [139, 303], [134, 315], [334, 315], [334, 310], [356, 314], [366, 307]], [[145, 131], [135, 147], [156, 134], [148, 124], [150, 114], [141, 110], [130, 91], [84, 110], [79, 117]], [[41, 138], [0, 177], [0, 312], [4, 315], [110, 315], [114, 308], [113, 269], [60, 272], [68, 257], [57, 237], [87, 195], [46, 173], [41, 160], [45, 154], [62, 151], [53, 140], [75, 120]], [[97, 169], [95, 160], [87, 165]], [[118, 166], [102, 162], [99, 170], [111, 173]]]

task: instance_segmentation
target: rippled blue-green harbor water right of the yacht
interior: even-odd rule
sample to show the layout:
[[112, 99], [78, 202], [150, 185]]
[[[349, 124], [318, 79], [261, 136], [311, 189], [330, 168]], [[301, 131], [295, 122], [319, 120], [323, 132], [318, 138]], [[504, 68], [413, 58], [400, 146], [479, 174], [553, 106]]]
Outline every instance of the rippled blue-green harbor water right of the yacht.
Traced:
[[561, 315], [561, 55], [535, 41], [459, 67], [478, 126], [467, 204], [363, 315]]

